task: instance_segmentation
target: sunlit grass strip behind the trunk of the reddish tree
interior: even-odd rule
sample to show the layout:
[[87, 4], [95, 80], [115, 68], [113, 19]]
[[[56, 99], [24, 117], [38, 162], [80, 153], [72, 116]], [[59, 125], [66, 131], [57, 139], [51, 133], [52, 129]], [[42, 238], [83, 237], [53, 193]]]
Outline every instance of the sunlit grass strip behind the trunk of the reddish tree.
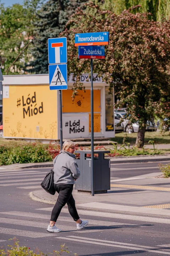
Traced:
[[[123, 140], [125, 142], [128, 142], [130, 144], [135, 144], [136, 142], [137, 133], [130, 133], [126, 134], [124, 132], [122, 133], [116, 133], [115, 138], [111, 138], [112, 141], [115, 141], [119, 144], [123, 143]], [[170, 133], [165, 132], [146, 132], [145, 133], [145, 144], [148, 144], [149, 140], [154, 140], [155, 144], [170, 144]]]

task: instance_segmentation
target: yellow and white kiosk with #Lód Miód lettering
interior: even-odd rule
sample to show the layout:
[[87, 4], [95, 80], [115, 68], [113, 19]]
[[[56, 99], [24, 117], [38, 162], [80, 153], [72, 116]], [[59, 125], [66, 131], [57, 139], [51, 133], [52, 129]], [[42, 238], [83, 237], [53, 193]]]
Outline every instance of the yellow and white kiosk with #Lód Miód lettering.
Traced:
[[[102, 77], [94, 79], [94, 137], [115, 137], [114, 96]], [[73, 76], [62, 90], [63, 138], [91, 137], [91, 81], [81, 76], [86, 91], [72, 100]], [[5, 75], [3, 81], [4, 138], [59, 140], [58, 91], [49, 90], [48, 74]]]

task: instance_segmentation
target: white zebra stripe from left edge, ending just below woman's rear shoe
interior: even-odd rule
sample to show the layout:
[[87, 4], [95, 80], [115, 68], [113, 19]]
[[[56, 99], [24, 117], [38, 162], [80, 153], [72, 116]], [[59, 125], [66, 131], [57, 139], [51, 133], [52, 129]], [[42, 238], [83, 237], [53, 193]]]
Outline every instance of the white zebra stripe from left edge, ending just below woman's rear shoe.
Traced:
[[17, 235], [17, 236], [26, 236], [30, 238], [43, 238], [45, 236], [55, 235], [54, 233], [41, 233], [35, 231], [28, 230], [20, 230], [20, 229], [9, 229], [9, 228], [1, 228], [0, 233], [8, 234], [8, 235]]

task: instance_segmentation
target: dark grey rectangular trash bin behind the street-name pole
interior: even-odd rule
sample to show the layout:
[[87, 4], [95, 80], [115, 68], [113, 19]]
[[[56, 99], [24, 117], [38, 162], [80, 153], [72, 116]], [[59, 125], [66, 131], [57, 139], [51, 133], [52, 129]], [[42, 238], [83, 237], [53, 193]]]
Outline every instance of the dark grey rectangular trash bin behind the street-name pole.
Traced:
[[[76, 159], [81, 172], [76, 180], [75, 189], [78, 192], [91, 192], [91, 150], [77, 150], [80, 159]], [[98, 157], [94, 158], [94, 193], [107, 193], [110, 190], [110, 159], [105, 159], [104, 154], [110, 151], [94, 150]]]

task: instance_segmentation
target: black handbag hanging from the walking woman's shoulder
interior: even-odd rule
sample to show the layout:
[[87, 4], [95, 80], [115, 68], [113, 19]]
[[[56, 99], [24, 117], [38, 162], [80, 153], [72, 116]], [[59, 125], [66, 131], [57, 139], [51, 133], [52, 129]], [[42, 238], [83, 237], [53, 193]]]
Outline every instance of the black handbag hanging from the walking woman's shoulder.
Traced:
[[[56, 160], [55, 160], [55, 162], [56, 162]], [[53, 169], [54, 169], [54, 167], [53, 167]], [[41, 183], [42, 188], [44, 188], [44, 190], [46, 192], [48, 192], [52, 195], [54, 195], [56, 192], [54, 189], [54, 171], [53, 171], [53, 169], [51, 171], [47, 172], [44, 180]]]

